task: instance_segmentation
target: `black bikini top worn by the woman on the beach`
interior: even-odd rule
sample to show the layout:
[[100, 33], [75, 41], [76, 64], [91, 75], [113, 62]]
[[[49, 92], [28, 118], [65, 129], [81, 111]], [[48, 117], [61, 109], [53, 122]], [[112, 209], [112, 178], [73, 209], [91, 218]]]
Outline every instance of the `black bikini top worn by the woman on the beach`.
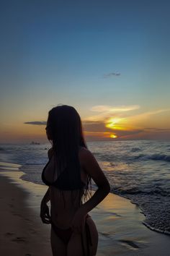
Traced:
[[[64, 168], [61, 174], [58, 174], [56, 179], [54, 177], [55, 182], [48, 182], [47, 179], [45, 179], [45, 170], [54, 171], [54, 168], [56, 168], [56, 159], [53, 154], [42, 170], [42, 182], [47, 186], [54, 186], [61, 190], [83, 189], [86, 186], [86, 184], [81, 181], [80, 166], [79, 168], [68, 166]], [[56, 170], [54, 171], [54, 174], [57, 174]]]

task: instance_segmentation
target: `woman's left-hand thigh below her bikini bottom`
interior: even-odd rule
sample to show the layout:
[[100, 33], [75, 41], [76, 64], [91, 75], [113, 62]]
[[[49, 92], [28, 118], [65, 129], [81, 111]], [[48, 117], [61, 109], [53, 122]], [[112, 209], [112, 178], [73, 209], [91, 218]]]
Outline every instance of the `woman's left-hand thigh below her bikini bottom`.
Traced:
[[53, 228], [50, 230], [50, 244], [53, 256], [66, 256], [67, 247], [64, 242], [55, 234]]

